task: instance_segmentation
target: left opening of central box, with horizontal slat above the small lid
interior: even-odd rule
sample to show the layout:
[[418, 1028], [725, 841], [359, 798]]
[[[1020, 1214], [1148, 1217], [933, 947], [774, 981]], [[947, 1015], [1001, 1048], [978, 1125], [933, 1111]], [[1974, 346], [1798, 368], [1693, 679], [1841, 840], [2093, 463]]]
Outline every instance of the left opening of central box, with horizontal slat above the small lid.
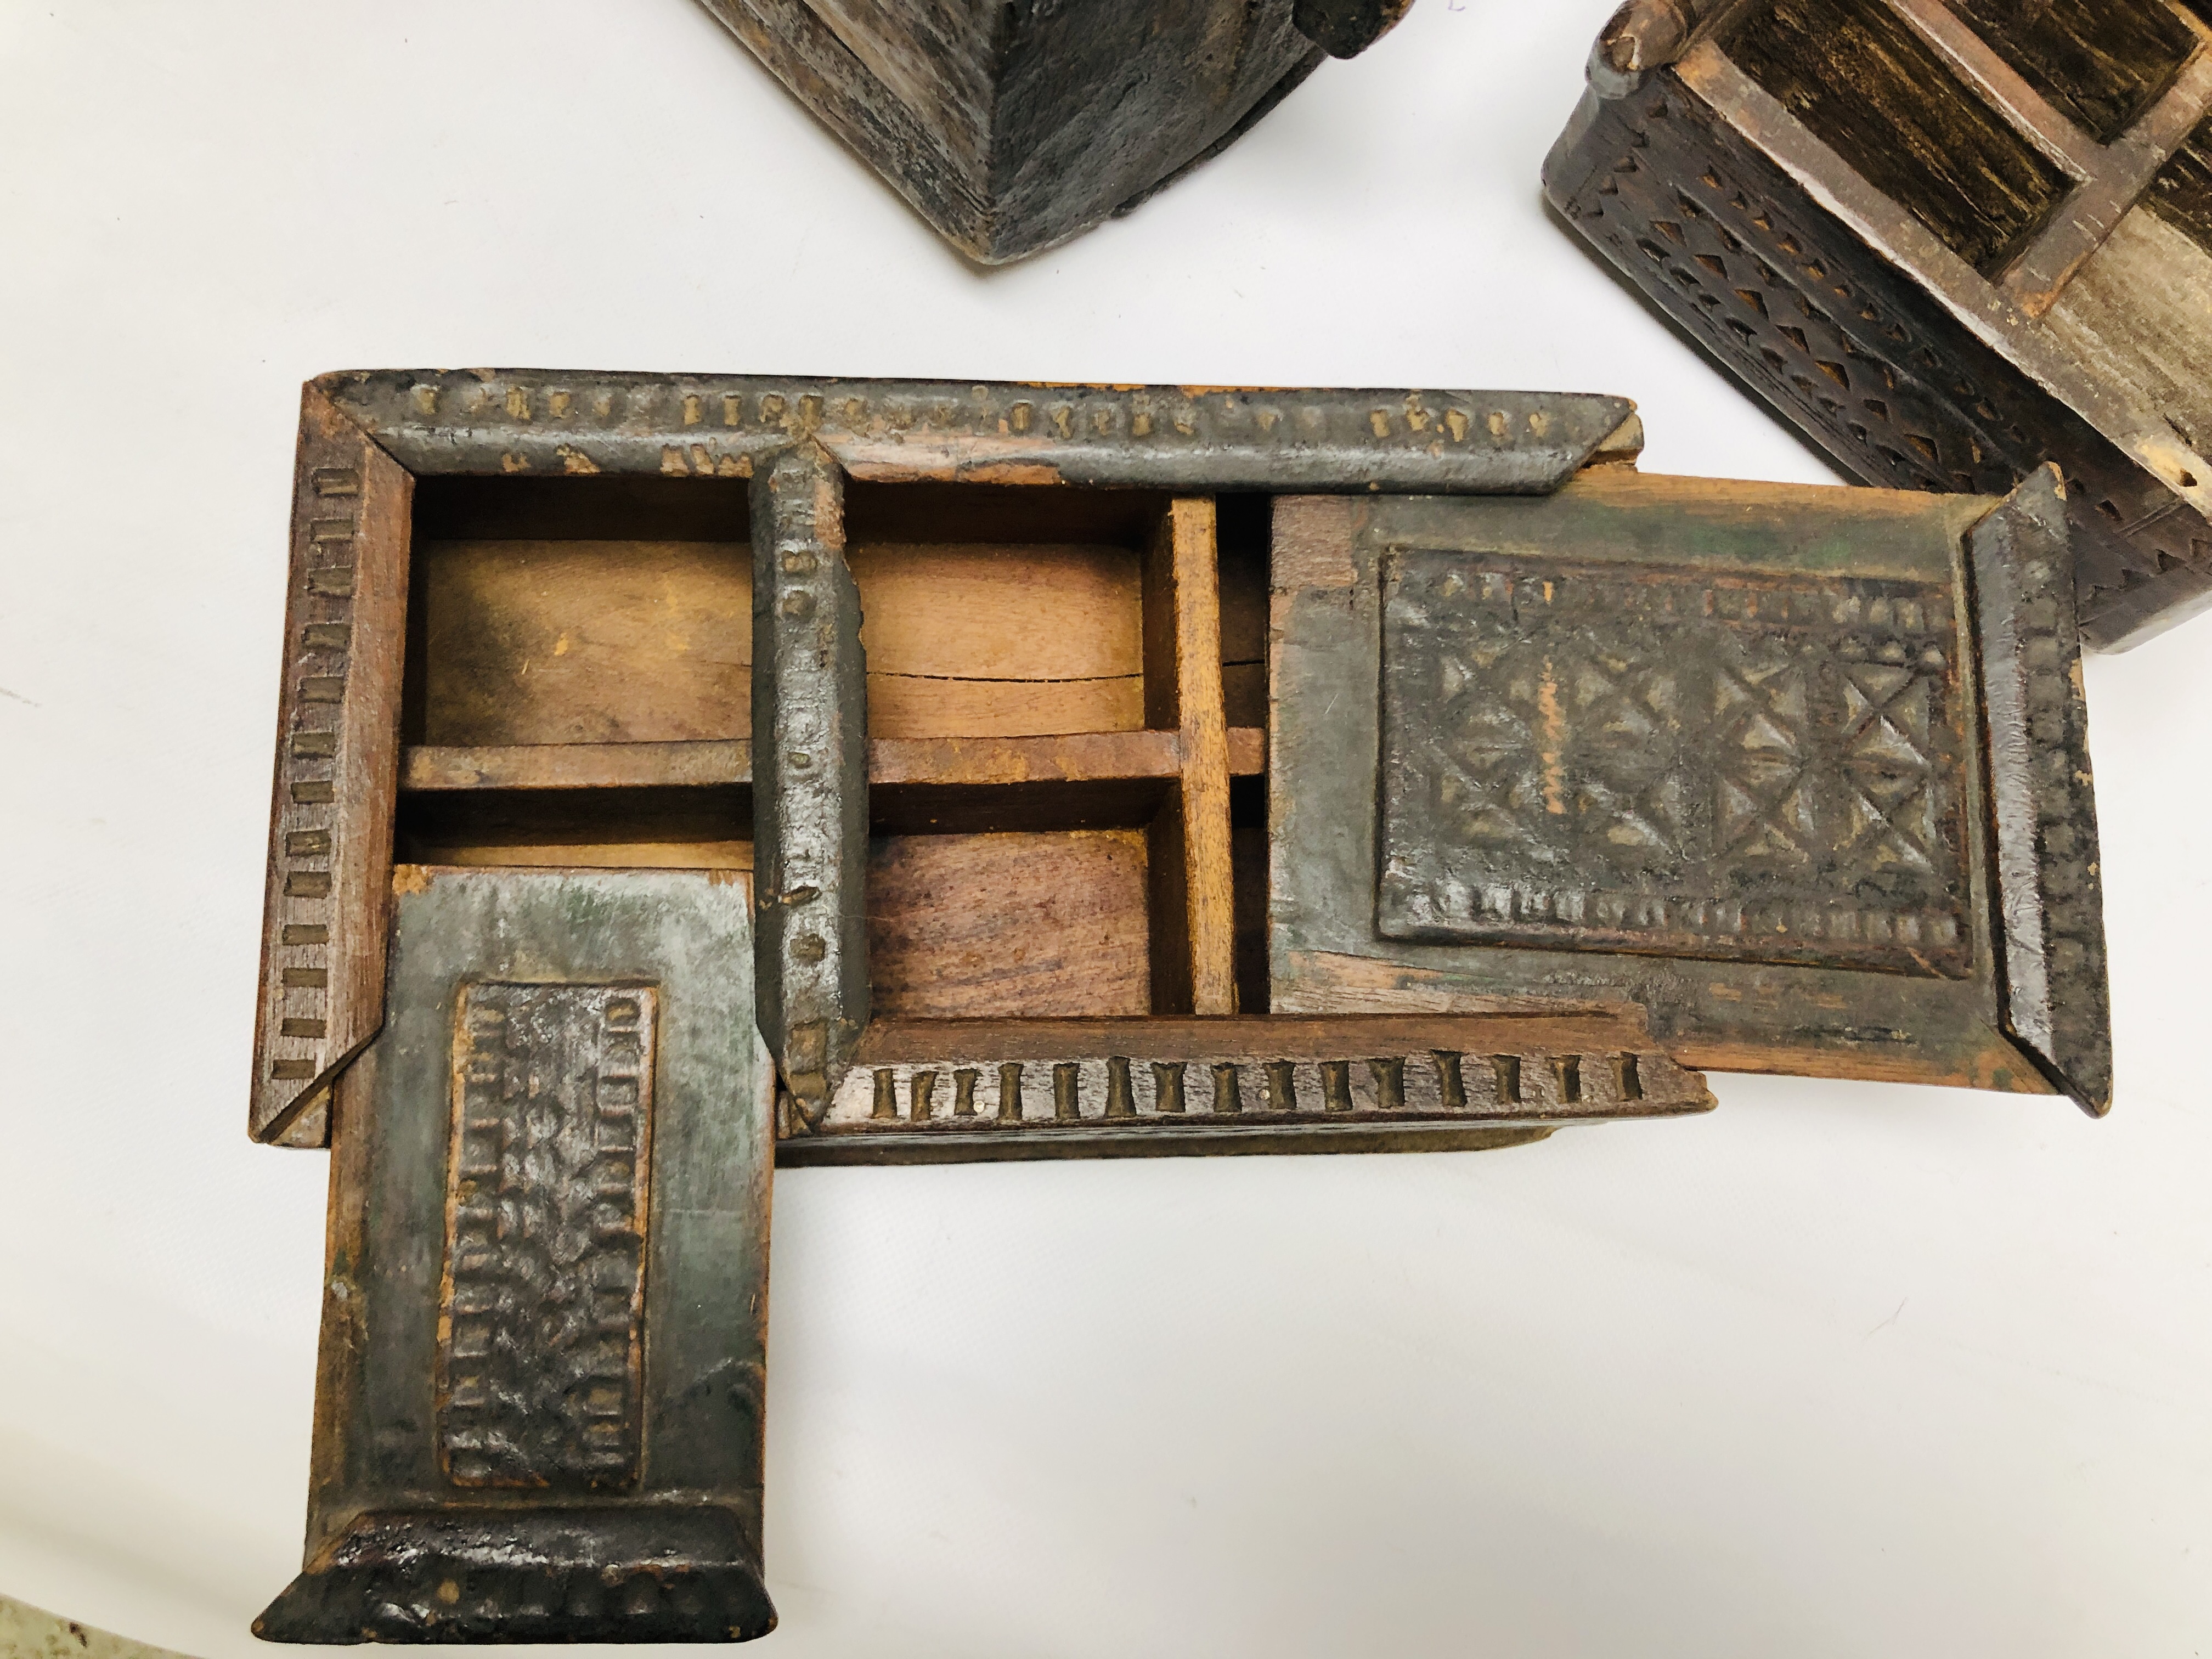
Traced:
[[745, 491], [420, 480], [403, 860], [752, 867]]

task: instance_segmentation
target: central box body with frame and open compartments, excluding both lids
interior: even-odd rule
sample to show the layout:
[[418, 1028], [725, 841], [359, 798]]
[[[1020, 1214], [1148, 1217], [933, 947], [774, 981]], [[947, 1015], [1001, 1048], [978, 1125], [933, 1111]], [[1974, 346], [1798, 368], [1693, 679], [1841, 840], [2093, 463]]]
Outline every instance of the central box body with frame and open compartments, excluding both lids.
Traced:
[[[1621, 1002], [1416, 1053], [1276, 1020], [1267, 971], [1283, 491], [1542, 493], [1639, 440], [1601, 396], [327, 376], [294, 471], [250, 1130], [325, 1141], [383, 1029], [394, 894], [453, 865], [748, 876], [790, 1161], [1489, 1146], [1703, 1110]], [[1559, 1086], [1462, 1088], [1467, 1053], [1478, 1077], [1557, 1060]], [[1630, 1055], [1648, 1086], [1573, 1082]]]

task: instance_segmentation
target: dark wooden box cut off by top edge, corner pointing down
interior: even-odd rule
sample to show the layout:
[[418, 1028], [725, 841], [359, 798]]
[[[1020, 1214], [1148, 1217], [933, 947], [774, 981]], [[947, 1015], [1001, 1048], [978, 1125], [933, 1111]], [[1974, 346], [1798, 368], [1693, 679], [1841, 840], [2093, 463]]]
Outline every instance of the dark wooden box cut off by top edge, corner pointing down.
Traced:
[[995, 265], [1234, 144], [1411, 0], [706, 0], [956, 248]]

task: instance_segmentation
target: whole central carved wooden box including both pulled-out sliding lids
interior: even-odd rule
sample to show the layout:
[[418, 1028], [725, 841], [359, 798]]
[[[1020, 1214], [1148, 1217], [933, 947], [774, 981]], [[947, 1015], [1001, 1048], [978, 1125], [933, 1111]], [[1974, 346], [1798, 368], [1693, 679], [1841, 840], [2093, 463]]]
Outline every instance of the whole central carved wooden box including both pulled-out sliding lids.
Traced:
[[741, 1639], [772, 1164], [1498, 1148], [1694, 1064], [2108, 1102], [2064, 498], [1628, 403], [307, 389], [259, 1139], [296, 1641]]

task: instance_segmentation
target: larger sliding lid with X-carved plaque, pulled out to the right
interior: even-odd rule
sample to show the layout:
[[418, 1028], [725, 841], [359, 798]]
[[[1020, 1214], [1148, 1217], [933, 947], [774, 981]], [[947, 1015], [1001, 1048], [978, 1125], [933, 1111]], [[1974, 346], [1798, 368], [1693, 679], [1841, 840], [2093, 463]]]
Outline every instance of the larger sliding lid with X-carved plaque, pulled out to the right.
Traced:
[[[1630, 471], [1540, 502], [1281, 502], [1274, 1009], [1615, 995], [1714, 1071], [2059, 1086], [2002, 969], [2053, 947], [1991, 929], [2037, 869], [2079, 894], [2095, 818], [2081, 783], [2053, 803], [2073, 841], [2013, 836], [2000, 918], [1964, 571], [1991, 507]], [[1422, 560], [1460, 591], [1391, 593]], [[1394, 666], [1416, 624], [1453, 650]], [[2073, 661], [2048, 624], [2035, 650]], [[2057, 1073], [2101, 1108], [2101, 947], [2057, 953], [2090, 1026]]]

